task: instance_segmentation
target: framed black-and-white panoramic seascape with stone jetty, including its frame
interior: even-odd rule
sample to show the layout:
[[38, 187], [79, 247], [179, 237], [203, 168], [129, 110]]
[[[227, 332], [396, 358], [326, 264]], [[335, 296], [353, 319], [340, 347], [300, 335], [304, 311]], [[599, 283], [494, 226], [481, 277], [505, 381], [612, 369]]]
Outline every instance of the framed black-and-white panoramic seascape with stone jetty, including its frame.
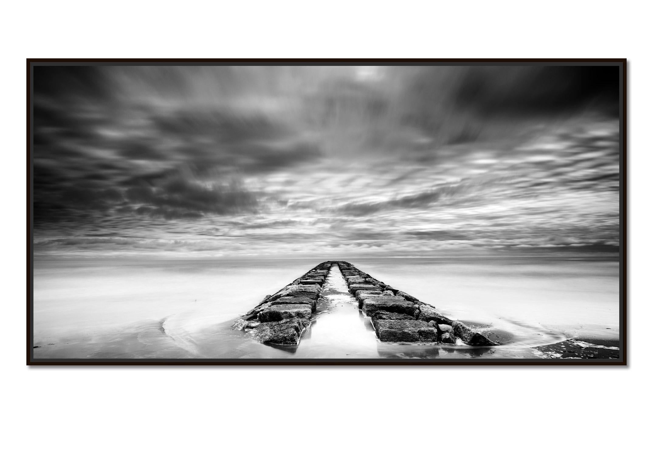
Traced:
[[28, 365], [626, 365], [626, 59], [28, 59]]

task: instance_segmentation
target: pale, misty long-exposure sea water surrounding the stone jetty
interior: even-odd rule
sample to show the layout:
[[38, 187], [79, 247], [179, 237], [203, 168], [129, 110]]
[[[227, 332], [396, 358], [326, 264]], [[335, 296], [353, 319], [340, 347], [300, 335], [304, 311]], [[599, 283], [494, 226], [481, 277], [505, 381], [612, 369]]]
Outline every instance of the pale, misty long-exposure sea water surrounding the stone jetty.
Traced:
[[[324, 260], [347, 260], [504, 345], [378, 342], [332, 271], [298, 346], [231, 328]], [[336, 268], [337, 269], [337, 268]], [[570, 337], [617, 340], [619, 264], [609, 258], [44, 258], [34, 267], [35, 358], [534, 357]]]

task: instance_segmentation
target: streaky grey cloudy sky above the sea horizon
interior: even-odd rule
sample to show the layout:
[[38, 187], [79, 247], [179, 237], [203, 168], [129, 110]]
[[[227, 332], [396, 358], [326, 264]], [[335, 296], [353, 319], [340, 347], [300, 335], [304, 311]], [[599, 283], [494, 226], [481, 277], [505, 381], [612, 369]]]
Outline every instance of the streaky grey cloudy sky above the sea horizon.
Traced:
[[35, 252], [618, 252], [618, 76], [35, 66]]

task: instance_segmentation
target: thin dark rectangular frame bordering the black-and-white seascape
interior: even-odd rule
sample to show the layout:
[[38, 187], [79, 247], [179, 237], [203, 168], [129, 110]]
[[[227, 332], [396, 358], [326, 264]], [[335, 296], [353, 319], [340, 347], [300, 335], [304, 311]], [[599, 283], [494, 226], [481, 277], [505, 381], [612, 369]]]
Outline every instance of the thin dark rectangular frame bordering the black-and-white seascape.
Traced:
[[[620, 147], [620, 168], [619, 168], [619, 357], [602, 358], [581, 357], [574, 359], [566, 358], [375, 358], [375, 359], [203, 359], [203, 358], [138, 358], [138, 359], [104, 359], [104, 358], [37, 358], [35, 357], [34, 340], [34, 233], [35, 233], [35, 209], [34, 209], [34, 99], [33, 99], [33, 68], [39, 66], [108, 66], [108, 65], [421, 65], [421, 66], [445, 66], [445, 65], [523, 65], [523, 66], [618, 66], [619, 76], [619, 147]], [[627, 365], [627, 282], [626, 282], [626, 261], [627, 261], [627, 74], [626, 59], [27, 59], [27, 365]], [[337, 260], [338, 258], [325, 258], [325, 260]], [[298, 271], [300, 273], [302, 271]], [[372, 278], [374, 279], [374, 278]], [[383, 277], [379, 277], [383, 280]], [[378, 281], [377, 281], [378, 282]], [[299, 284], [299, 282], [297, 282]], [[385, 284], [383, 284], [385, 286]], [[389, 288], [389, 287], [388, 287]], [[381, 288], [383, 290], [383, 288]], [[396, 290], [392, 289], [395, 293]], [[274, 291], [270, 291], [271, 293]], [[407, 290], [411, 293], [410, 290]], [[415, 298], [415, 297], [411, 297]], [[421, 303], [421, 302], [417, 302]], [[247, 310], [243, 310], [246, 314]]]

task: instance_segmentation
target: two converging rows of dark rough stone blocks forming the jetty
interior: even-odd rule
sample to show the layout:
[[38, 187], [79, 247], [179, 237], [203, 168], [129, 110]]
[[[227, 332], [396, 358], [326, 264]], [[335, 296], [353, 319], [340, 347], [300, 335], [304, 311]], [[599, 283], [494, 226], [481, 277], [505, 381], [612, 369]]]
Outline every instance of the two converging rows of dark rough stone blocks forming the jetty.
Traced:
[[332, 268], [342, 273], [358, 308], [372, 320], [381, 342], [498, 345], [468, 325], [443, 316], [436, 307], [375, 279], [345, 261], [323, 262], [268, 295], [234, 322], [264, 344], [296, 345], [315, 318], [321, 288]]

